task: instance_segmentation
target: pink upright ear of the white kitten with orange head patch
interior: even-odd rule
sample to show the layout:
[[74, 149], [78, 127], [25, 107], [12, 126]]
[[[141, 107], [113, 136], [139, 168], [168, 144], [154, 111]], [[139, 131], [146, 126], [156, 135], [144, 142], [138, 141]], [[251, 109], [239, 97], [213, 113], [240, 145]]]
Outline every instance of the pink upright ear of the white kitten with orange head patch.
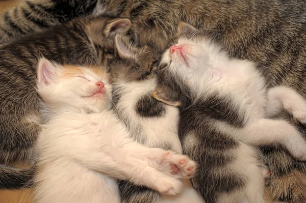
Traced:
[[47, 86], [52, 83], [58, 75], [59, 67], [50, 61], [41, 58], [37, 65], [38, 85]]

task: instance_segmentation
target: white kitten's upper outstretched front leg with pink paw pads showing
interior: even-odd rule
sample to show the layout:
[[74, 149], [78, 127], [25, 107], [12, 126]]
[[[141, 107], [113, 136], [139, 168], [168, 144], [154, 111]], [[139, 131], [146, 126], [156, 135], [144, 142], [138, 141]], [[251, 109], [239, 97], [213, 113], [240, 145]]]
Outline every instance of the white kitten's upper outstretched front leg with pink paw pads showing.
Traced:
[[126, 154], [145, 160], [151, 167], [169, 176], [188, 179], [195, 175], [197, 164], [186, 155], [160, 148], [148, 148], [137, 142], [126, 143], [122, 149]]

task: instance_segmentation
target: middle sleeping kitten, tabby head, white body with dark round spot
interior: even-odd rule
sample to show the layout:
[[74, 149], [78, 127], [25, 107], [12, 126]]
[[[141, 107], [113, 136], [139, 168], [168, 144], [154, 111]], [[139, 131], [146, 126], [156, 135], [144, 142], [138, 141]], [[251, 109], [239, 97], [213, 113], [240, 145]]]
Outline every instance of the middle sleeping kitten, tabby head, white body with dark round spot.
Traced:
[[[113, 80], [114, 111], [129, 129], [130, 137], [150, 148], [162, 148], [182, 154], [177, 136], [179, 109], [154, 100], [150, 95], [157, 85], [154, 70], [159, 55], [151, 47], [136, 47], [127, 37], [115, 37], [118, 55], [109, 62]], [[182, 193], [169, 196], [148, 188], [119, 182], [122, 202], [204, 202], [189, 180]]]

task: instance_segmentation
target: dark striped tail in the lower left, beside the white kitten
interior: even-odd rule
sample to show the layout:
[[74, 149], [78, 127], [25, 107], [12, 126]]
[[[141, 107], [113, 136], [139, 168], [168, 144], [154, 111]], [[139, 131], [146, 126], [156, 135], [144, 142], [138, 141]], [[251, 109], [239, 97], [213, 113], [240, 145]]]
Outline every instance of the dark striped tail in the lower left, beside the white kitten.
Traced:
[[0, 165], [0, 190], [16, 190], [34, 185], [35, 167], [16, 168]]

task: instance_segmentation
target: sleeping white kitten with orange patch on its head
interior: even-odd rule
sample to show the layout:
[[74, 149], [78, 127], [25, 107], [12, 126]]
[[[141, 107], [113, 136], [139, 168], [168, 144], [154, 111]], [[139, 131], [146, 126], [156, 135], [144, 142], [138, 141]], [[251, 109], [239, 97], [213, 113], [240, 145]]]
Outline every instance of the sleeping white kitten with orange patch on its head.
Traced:
[[35, 202], [120, 202], [112, 178], [176, 195], [182, 183], [175, 178], [194, 175], [187, 156], [129, 138], [110, 110], [105, 71], [41, 59], [37, 80], [46, 123], [37, 141]]

